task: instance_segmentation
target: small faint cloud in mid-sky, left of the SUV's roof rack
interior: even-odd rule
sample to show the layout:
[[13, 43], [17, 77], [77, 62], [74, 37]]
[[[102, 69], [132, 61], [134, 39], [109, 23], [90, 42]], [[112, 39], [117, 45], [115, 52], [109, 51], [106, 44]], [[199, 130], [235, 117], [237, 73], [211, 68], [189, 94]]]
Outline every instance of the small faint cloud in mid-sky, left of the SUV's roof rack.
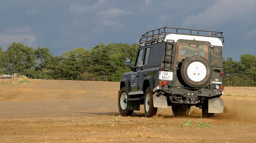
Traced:
[[120, 10], [118, 8], [111, 8], [107, 11], [100, 11], [98, 14], [105, 19], [109, 19], [117, 17], [121, 14], [132, 14], [132, 12]]

